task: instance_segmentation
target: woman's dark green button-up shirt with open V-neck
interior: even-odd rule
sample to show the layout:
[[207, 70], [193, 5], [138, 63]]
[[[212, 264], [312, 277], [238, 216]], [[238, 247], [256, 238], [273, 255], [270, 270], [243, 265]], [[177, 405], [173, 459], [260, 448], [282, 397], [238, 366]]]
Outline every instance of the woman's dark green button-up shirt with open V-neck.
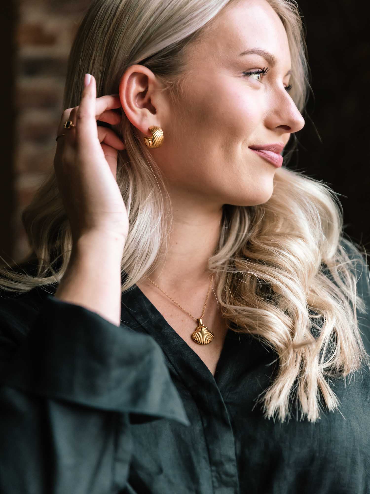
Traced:
[[257, 339], [229, 330], [214, 377], [137, 286], [120, 327], [55, 289], [1, 294], [2, 494], [370, 494], [369, 369], [330, 381], [339, 411], [274, 422]]

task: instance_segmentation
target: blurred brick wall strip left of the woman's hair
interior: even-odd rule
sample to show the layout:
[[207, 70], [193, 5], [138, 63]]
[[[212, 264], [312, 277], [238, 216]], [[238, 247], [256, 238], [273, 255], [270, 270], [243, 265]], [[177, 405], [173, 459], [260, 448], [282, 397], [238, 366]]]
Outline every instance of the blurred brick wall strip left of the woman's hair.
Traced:
[[18, 0], [15, 30], [15, 248], [13, 259], [30, 251], [21, 224], [27, 206], [53, 166], [56, 131], [63, 111], [67, 60], [90, 0]]

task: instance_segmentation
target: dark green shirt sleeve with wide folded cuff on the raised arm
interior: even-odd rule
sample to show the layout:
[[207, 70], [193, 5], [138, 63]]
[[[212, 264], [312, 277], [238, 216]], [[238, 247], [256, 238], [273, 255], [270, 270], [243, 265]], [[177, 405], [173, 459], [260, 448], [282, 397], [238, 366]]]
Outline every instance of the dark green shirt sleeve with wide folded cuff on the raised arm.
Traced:
[[0, 492], [119, 493], [132, 422], [190, 425], [161, 348], [50, 295], [23, 333], [14, 307], [0, 310]]

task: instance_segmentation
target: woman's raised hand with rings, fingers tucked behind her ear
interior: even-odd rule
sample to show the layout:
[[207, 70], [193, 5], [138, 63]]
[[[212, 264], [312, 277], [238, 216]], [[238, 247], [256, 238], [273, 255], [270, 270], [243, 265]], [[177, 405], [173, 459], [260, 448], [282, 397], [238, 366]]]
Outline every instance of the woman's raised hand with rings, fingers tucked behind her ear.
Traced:
[[[70, 220], [74, 243], [86, 234], [118, 238], [123, 244], [128, 232], [128, 215], [116, 182], [117, 150], [124, 143], [109, 128], [98, 126], [101, 120], [119, 124], [118, 95], [96, 97], [93, 76], [85, 87], [79, 106], [63, 112], [58, 134], [54, 168], [58, 188]], [[86, 85], [87, 83], [87, 85]], [[75, 127], [64, 128], [67, 120]]]

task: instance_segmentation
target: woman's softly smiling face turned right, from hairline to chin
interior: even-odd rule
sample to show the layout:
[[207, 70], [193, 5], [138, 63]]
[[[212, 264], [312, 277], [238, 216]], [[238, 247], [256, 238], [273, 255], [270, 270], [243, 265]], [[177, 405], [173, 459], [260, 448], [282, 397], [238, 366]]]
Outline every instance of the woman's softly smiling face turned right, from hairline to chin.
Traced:
[[[252, 48], [273, 54], [276, 65], [240, 55]], [[163, 145], [150, 152], [171, 198], [206, 207], [266, 202], [279, 169], [249, 146], [285, 145], [304, 125], [285, 89], [291, 57], [281, 20], [265, 0], [232, 4], [207, 36], [189, 45], [188, 64], [181, 108], [158, 105], [150, 114], [155, 120], [148, 120], [164, 132]], [[266, 67], [265, 76], [243, 74]]]

